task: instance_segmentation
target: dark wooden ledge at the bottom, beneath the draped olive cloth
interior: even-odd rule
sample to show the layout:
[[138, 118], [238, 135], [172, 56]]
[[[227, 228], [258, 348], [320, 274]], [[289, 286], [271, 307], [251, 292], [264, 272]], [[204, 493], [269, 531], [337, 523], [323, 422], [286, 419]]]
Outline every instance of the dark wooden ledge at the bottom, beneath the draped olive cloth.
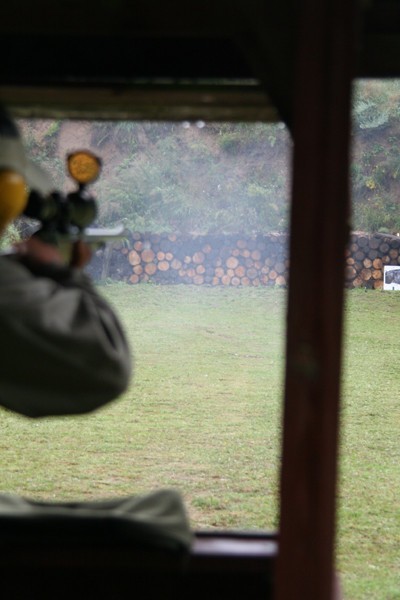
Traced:
[[4, 598], [52, 600], [57, 590], [59, 600], [272, 599], [277, 543], [268, 533], [197, 532], [188, 554], [121, 543], [107, 534], [99, 541], [93, 528], [83, 527], [74, 542], [59, 537], [50, 544], [41, 535], [0, 543]]

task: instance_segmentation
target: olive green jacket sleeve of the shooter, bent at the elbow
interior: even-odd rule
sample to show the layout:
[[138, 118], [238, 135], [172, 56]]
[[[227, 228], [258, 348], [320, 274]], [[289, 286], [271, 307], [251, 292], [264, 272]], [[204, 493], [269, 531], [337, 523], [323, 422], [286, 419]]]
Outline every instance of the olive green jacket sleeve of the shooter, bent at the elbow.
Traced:
[[34, 271], [0, 259], [0, 404], [40, 417], [120, 396], [132, 356], [115, 311], [78, 270]]

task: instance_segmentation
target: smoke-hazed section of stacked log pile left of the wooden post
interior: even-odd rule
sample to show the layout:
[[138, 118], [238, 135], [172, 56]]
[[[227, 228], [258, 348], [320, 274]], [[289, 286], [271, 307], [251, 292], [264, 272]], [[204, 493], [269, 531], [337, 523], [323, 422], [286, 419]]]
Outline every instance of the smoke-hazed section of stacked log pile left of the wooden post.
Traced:
[[[121, 256], [125, 258], [124, 267]], [[114, 247], [108, 271], [112, 279], [131, 284], [152, 281], [285, 286], [288, 266], [284, 234], [244, 237], [132, 233], [127, 244]], [[95, 279], [100, 272], [98, 268], [97, 275], [92, 273]]]

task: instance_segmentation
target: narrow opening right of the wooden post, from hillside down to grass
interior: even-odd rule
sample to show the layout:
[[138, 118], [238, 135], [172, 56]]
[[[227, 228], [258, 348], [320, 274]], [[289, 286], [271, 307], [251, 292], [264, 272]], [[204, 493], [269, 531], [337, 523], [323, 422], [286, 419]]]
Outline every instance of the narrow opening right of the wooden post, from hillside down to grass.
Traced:
[[338, 566], [351, 599], [400, 591], [400, 295], [383, 291], [385, 266], [400, 269], [399, 98], [398, 79], [354, 83], [338, 502]]

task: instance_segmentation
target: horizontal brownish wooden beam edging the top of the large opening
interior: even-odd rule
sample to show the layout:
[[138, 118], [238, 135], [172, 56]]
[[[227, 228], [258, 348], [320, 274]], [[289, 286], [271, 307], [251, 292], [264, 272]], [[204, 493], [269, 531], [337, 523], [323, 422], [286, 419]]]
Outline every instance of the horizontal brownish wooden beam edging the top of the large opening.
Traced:
[[173, 82], [113, 86], [2, 86], [0, 102], [14, 117], [158, 121], [279, 120], [257, 85], [191, 85]]

